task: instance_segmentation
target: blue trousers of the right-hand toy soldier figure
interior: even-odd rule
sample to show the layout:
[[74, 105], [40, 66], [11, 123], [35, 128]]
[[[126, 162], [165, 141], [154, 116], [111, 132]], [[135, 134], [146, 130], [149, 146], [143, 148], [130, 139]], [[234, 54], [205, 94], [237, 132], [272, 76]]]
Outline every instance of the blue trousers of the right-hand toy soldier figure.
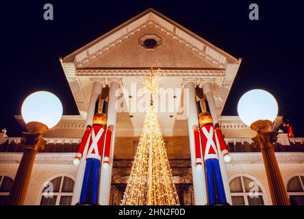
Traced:
[[[218, 159], [205, 160], [205, 171], [208, 191], [208, 204], [227, 204], [227, 199], [224, 190], [222, 175], [220, 174], [220, 165]], [[218, 203], [216, 202], [218, 198]]]

